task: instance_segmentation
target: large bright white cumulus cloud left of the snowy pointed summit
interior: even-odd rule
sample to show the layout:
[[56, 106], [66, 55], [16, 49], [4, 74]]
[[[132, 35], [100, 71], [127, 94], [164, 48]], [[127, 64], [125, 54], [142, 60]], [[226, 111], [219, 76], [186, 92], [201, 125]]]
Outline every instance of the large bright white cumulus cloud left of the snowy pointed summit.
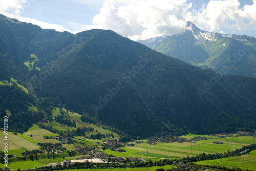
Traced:
[[131, 39], [146, 39], [162, 34], [174, 35], [184, 32], [186, 1], [120, 1], [106, 0], [100, 14], [93, 17], [93, 28], [110, 29]]

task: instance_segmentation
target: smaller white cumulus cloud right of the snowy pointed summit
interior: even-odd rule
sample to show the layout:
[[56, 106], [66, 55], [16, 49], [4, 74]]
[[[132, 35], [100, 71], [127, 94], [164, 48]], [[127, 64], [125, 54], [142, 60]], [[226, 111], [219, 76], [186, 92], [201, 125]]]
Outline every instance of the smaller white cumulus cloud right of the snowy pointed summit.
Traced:
[[253, 5], [241, 7], [238, 0], [209, 1], [204, 4], [201, 10], [191, 13], [188, 12], [187, 18], [191, 22], [201, 26], [204, 30], [216, 31], [220, 27], [229, 27], [232, 31], [243, 30], [250, 24], [256, 24], [256, 0]]

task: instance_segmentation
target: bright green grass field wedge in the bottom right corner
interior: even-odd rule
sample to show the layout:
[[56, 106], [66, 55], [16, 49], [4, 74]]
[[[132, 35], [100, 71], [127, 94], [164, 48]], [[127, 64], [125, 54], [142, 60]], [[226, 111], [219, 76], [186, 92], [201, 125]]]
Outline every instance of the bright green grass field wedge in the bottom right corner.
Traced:
[[256, 151], [252, 151], [243, 156], [199, 161], [196, 163], [200, 165], [216, 164], [216, 165], [223, 165], [227, 167], [240, 167], [242, 169], [256, 170]]

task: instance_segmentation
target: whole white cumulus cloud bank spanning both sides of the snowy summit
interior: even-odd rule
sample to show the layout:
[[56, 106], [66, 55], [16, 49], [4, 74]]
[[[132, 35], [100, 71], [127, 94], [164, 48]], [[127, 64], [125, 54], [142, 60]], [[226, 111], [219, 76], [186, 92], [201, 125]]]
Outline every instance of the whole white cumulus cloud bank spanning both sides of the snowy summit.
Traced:
[[187, 21], [212, 32], [220, 32], [223, 26], [232, 31], [243, 30], [248, 26], [246, 21], [256, 22], [256, 0], [244, 7], [238, 0], [204, 2], [192, 5], [186, 0], [105, 0], [100, 13], [93, 17], [93, 24], [82, 30], [110, 29], [137, 40], [183, 33]]

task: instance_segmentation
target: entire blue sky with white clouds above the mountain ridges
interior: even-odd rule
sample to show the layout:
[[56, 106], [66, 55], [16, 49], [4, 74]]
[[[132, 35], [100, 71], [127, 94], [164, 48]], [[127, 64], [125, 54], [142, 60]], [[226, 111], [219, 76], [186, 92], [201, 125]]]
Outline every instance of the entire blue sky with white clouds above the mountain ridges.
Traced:
[[256, 0], [0, 0], [0, 13], [76, 34], [110, 29], [132, 40], [202, 30], [256, 37]]

